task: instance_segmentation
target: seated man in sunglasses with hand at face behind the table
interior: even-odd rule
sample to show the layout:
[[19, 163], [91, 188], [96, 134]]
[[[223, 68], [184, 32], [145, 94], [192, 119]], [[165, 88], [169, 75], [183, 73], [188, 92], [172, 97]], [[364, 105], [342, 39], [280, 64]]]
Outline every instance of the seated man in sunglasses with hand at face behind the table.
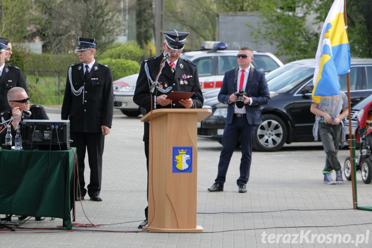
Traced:
[[[12, 117], [18, 118], [14, 119], [11, 123], [11, 130], [12, 130], [12, 138], [14, 144], [14, 137], [16, 135], [17, 126], [21, 125], [21, 121], [24, 119], [31, 119], [31, 120], [49, 120], [47, 112], [45, 109], [40, 105], [31, 105], [30, 106], [30, 97], [27, 95], [24, 88], [21, 87], [13, 87], [8, 92], [8, 101], [10, 105], [10, 109], [0, 113], [1, 123], [10, 120]], [[27, 110], [31, 112], [31, 116], [24, 115], [21, 117], [22, 110]], [[8, 124], [8, 122], [3, 123], [3, 128]], [[0, 133], [0, 140], [1, 144], [5, 143], [5, 136], [7, 130], [4, 130]], [[18, 216], [19, 220], [26, 219], [28, 216], [22, 215]], [[11, 215], [8, 216], [11, 218]], [[35, 220], [40, 221], [45, 219], [45, 217], [35, 217]]]

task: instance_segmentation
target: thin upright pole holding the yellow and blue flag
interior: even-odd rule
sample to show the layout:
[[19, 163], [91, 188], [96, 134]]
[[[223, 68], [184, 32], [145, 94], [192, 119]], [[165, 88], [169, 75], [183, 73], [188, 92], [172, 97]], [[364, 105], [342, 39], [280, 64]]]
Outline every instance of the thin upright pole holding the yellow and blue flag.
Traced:
[[[347, 20], [346, 20], [346, 0], [343, 1], [343, 20], [345, 22], [345, 27], [347, 27]], [[347, 35], [347, 28], [346, 28], [346, 35]], [[346, 74], [346, 82], [347, 82], [347, 107], [348, 107], [348, 125], [349, 125], [349, 146], [350, 146], [350, 162], [351, 162], [351, 176], [352, 176], [352, 188], [353, 188], [353, 208], [357, 209], [357, 200], [356, 200], [356, 192], [355, 192], [355, 158], [354, 158], [354, 145], [353, 145], [353, 131], [352, 131], [352, 112], [351, 112], [351, 101], [350, 101], [350, 73]], [[355, 144], [355, 143], [354, 143]]]

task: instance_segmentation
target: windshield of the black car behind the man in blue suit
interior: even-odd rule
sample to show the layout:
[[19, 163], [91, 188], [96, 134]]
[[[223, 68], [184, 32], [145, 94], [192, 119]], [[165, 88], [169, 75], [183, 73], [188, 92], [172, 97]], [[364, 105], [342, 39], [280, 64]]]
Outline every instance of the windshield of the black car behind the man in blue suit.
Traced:
[[313, 67], [293, 67], [292, 69], [289, 69], [288, 71], [271, 78], [267, 82], [269, 91], [286, 92], [313, 74]]

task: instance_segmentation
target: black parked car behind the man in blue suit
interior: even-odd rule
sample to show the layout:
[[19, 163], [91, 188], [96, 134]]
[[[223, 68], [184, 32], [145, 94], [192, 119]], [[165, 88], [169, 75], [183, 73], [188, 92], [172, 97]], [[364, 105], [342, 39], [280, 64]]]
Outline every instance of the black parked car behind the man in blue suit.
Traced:
[[[266, 75], [271, 101], [261, 106], [263, 123], [255, 133], [255, 150], [278, 151], [285, 143], [314, 141], [315, 115], [310, 112], [314, 69], [315, 59], [307, 59], [288, 63]], [[346, 92], [346, 75], [341, 76], [340, 84]], [[352, 105], [372, 94], [372, 59], [352, 58], [350, 89]], [[198, 123], [198, 136], [221, 142], [227, 105], [211, 98], [204, 101], [204, 107], [212, 108], [213, 114]]]

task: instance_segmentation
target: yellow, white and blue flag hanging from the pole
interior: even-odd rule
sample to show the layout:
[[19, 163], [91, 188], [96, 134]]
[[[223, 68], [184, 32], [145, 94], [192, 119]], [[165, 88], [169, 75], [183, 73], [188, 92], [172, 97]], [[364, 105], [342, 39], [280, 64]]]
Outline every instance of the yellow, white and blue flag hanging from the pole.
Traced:
[[338, 76], [350, 70], [350, 47], [343, 8], [344, 1], [335, 0], [320, 33], [312, 93], [316, 103], [319, 103], [321, 96], [340, 95]]

